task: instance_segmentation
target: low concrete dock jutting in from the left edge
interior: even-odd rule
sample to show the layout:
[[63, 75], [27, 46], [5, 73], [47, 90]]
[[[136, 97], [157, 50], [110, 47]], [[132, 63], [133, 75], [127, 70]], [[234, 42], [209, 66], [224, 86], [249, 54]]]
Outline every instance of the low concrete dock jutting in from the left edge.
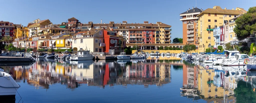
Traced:
[[30, 62], [30, 60], [18, 56], [0, 56], [0, 62]]

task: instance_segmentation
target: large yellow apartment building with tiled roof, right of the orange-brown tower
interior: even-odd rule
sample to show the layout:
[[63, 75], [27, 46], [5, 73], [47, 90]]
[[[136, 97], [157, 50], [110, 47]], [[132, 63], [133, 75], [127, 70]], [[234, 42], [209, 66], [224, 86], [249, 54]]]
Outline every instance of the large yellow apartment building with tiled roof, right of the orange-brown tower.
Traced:
[[215, 44], [213, 37], [213, 28], [221, 26], [226, 22], [238, 15], [246, 13], [242, 8], [232, 9], [222, 9], [220, 6], [214, 6], [213, 8], [208, 8], [202, 10], [200, 14], [197, 15], [197, 44], [198, 52], [205, 52], [205, 49], [213, 46]]

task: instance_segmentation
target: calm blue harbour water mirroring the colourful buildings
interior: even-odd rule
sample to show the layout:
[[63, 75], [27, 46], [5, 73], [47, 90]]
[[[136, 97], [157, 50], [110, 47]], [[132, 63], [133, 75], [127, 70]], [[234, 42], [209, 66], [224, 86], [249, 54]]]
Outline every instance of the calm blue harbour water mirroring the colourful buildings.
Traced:
[[171, 56], [0, 65], [21, 86], [16, 101], [6, 102], [256, 102], [255, 72]]

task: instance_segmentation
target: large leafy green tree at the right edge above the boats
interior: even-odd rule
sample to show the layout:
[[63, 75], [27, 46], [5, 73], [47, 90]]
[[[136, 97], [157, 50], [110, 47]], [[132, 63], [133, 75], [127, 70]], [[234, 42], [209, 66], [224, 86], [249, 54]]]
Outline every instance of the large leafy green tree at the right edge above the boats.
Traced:
[[234, 32], [238, 40], [255, 35], [256, 31], [256, 6], [250, 7], [246, 14], [238, 17]]

